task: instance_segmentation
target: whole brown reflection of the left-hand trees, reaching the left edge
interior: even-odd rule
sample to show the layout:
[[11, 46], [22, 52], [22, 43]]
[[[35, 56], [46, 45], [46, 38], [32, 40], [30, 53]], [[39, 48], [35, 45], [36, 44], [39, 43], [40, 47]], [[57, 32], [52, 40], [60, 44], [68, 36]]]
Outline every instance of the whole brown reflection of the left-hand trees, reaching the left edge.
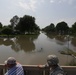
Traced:
[[11, 46], [12, 50], [18, 52], [24, 50], [29, 52], [35, 50], [34, 40], [38, 38], [39, 35], [23, 35], [16, 38], [0, 38], [0, 45]]

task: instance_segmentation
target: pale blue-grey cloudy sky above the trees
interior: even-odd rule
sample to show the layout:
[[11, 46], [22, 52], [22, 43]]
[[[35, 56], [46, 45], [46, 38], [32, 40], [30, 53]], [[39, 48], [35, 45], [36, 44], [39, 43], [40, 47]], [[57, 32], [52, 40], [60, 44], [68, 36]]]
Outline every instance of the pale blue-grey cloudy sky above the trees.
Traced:
[[0, 0], [0, 22], [8, 25], [15, 15], [35, 17], [40, 28], [61, 21], [72, 26], [76, 22], [76, 0]]

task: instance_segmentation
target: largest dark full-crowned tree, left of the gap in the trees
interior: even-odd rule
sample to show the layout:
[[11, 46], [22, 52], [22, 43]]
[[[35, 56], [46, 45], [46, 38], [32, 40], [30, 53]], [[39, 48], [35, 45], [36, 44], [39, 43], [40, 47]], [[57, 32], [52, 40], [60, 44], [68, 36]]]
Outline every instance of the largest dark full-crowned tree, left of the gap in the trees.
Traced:
[[20, 18], [20, 21], [16, 26], [16, 30], [19, 30], [22, 33], [35, 32], [37, 28], [38, 26], [35, 23], [35, 18], [29, 15], [25, 15], [22, 18]]

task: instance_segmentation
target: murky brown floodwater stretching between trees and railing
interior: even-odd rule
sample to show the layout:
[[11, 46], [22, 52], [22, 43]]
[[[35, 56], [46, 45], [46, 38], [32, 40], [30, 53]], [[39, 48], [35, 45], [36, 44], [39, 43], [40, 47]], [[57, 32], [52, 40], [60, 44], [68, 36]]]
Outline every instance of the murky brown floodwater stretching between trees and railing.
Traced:
[[8, 57], [15, 57], [23, 65], [43, 65], [49, 54], [59, 58], [60, 65], [69, 65], [75, 62], [70, 55], [60, 54], [66, 49], [76, 51], [76, 39], [69, 41], [66, 37], [40, 33], [39, 35], [22, 35], [15, 38], [0, 38], [0, 64]]

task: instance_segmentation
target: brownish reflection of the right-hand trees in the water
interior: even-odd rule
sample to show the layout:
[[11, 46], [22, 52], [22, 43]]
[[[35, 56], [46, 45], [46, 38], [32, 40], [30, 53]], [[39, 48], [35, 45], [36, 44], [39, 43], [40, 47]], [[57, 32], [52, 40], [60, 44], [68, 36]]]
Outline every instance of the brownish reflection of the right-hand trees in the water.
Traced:
[[73, 46], [76, 46], [76, 37], [67, 36], [67, 35], [47, 35], [50, 39], [55, 39], [54, 41], [59, 45], [64, 44], [72, 44]]

